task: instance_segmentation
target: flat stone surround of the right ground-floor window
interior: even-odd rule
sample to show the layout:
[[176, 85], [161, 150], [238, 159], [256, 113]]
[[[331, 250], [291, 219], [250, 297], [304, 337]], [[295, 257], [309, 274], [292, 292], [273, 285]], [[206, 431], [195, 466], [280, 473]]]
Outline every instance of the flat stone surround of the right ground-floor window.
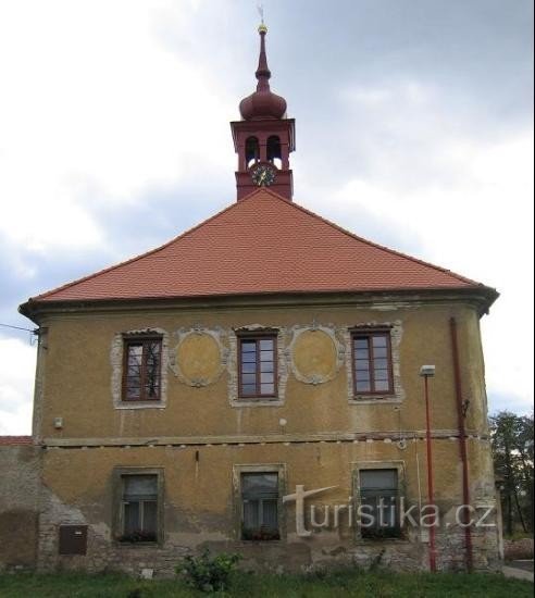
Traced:
[[[407, 538], [401, 527], [400, 519], [400, 497], [403, 496], [406, 488], [405, 479], [405, 463], [403, 461], [365, 461], [352, 463], [352, 496], [353, 496], [353, 521], [354, 521], [354, 540], [359, 544], [369, 544], [376, 541], [407, 541]], [[396, 534], [391, 536], [366, 536], [362, 534], [362, 526], [360, 525], [360, 518], [358, 516], [359, 508], [362, 504], [361, 496], [361, 472], [370, 470], [394, 470], [397, 473], [398, 487], [396, 489], [398, 501], [396, 504]]]

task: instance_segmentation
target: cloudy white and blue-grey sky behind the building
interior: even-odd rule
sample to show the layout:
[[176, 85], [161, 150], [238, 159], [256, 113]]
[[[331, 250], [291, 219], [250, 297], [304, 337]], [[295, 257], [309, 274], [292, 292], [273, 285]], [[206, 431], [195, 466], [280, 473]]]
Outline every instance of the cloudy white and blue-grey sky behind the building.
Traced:
[[[489, 410], [533, 404], [533, 2], [264, 0], [295, 201], [495, 287]], [[235, 201], [253, 0], [0, 0], [0, 323]], [[36, 347], [0, 326], [0, 434]]]

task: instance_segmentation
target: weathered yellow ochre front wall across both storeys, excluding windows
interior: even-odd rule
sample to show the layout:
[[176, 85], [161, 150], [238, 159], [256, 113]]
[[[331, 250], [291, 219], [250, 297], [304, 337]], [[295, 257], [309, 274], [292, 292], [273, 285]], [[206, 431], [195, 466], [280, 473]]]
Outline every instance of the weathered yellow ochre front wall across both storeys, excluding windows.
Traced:
[[[303, 538], [296, 534], [294, 503], [279, 511], [282, 540], [240, 540], [240, 498], [233, 471], [239, 465], [283, 468], [281, 494], [296, 491], [297, 485], [307, 490], [334, 486], [313, 502], [335, 506], [348, 503], [354, 494], [356, 472], [376, 463], [398, 469], [408, 506], [425, 503], [425, 410], [419, 370], [434, 364], [430, 394], [435, 503], [446, 518], [438, 535], [439, 566], [464, 568], [463, 531], [447, 521], [462, 503], [452, 316], [462, 399], [470, 401], [465, 426], [471, 502], [480, 516], [494, 504], [495, 490], [480, 316], [469, 302], [125, 309], [43, 316], [34, 415], [35, 438], [43, 445], [39, 566], [111, 566], [135, 573], [153, 566], [172, 574], [181, 556], [208, 543], [215, 550], [241, 552], [251, 566], [254, 562], [302, 570], [338, 558], [368, 566], [384, 550], [393, 568], [426, 568], [427, 540], [418, 530], [408, 530], [399, 540], [366, 541], [354, 527], [349, 530], [346, 512], [340, 527]], [[349, 329], [359, 325], [393, 326], [394, 399], [362, 401], [352, 395]], [[259, 326], [279, 329], [281, 404], [244, 404], [233, 397], [234, 331]], [[164, 334], [165, 407], [121, 409], [113, 395], [117, 347], [123, 334], [146, 329]], [[188, 383], [191, 372], [200, 372], [206, 385]], [[62, 419], [61, 428], [54, 427], [55, 418]], [[115, 541], [114, 475], [123, 468], [161, 472], [158, 546]], [[89, 527], [87, 555], [62, 557], [58, 528], [73, 523]], [[307, 525], [310, 528], [310, 522]], [[494, 566], [496, 528], [474, 531], [473, 541], [476, 566]]]

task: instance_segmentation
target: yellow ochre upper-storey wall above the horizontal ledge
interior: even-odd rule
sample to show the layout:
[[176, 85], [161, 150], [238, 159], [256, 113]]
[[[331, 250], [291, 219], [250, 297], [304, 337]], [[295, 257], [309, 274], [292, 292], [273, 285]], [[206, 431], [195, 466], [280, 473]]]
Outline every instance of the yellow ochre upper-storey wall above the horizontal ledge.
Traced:
[[[419, 370], [430, 363], [436, 365], [436, 377], [430, 381], [433, 428], [455, 431], [457, 411], [449, 328], [452, 315], [458, 321], [463, 399], [470, 400], [466, 427], [485, 433], [486, 398], [478, 315], [468, 304], [419, 304], [382, 311], [353, 307], [263, 307], [50, 315], [42, 323], [48, 333], [40, 351], [35, 433], [39, 438], [60, 440], [422, 431], [425, 416]], [[343, 337], [345, 332], [347, 337], [348, 327], [397, 323], [400, 332], [398, 367], [405, 397], [399, 403], [350, 403], [346, 363], [333, 372], [332, 379], [322, 384], [297, 379], [290, 363], [291, 333], [288, 332], [284, 339], [286, 346], [278, 347], [284, 352], [282, 359], [288, 363], [282, 406], [233, 407], [228, 400], [228, 383], [229, 369], [235, 364], [231, 363], [222, 365], [223, 373], [216, 382], [202, 387], [185, 384], [171, 367], [164, 367], [167, 381], [164, 409], [116, 409], [111, 393], [111, 347], [116, 335], [135, 329], [163, 329], [169, 333], [172, 356], [177, 345], [174, 333], [188, 331], [198, 322], [203, 328], [223, 331], [221, 347], [224, 350], [228, 348], [234, 328], [254, 324], [289, 331], [293, 326], [306, 327], [315, 322], [334, 329], [339, 345], [344, 346]], [[195, 351], [196, 344], [189, 345]], [[210, 358], [213, 360], [213, 354]], [[332, 360], [332, 351], [327, 358]], [[195, 359], [202, 360], [203, 356], [195, 356]], [[321, 354], [315, 359], [318, 370], [324, 372]], [[304, 354], [296, 353], [301, 367], [303, 360]], [[54, 418], [62, 418], [61, 429], [54, 428]], [[284, 428], [281, 419], [287, 422]]]

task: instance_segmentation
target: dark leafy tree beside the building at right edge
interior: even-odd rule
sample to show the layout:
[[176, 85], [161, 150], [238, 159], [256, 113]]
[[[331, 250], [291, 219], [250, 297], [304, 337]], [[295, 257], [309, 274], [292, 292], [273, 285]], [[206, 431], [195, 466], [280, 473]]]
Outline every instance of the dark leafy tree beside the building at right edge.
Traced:
[[507, 535], [520, 525], [533, 533], [533, 414], [500, 411], [490, 418], [494, 466], [503, 479], [501, 508]]

